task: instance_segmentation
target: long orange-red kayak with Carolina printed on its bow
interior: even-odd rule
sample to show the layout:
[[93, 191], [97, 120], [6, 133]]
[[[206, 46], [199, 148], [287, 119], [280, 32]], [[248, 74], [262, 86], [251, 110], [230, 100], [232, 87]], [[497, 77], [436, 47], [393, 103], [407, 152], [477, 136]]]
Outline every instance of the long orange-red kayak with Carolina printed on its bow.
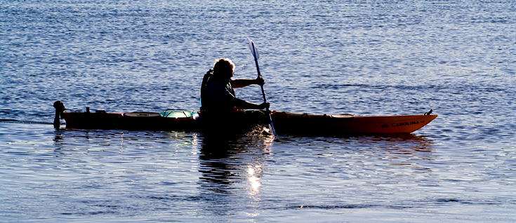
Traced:
[[[62, 102], [60, 103], [62, 104]], [[54, 107], [56, 107], [55, 104]], [[206, 128], [206, 125], [203, 125], [202, 116], [199, 116], [197, 112], [188, 110], [169, 109], [161, 113], [110, 113], [102, 110], [90, 112], [89, 108], [86, 108], [86, 112], [64, 112], [64, 110], [64, 105], [56, 107], [56, 128], [59, 126], [59, 118], [65, 119], [66, 128], [185, 130], [193, 132], [203, 132]], [[431, 114], [431, 112], [432, 110], [421, 115], [404, 116], [355, 116], [352, 114], [332, 115], [272, 111], [271, 117], [278, 134], [337, 136], [413, 133], [437, 118], [437, 115]], [[232, 125], [238, 123], [249, 125], [251, 123], [256, 126], [267, 126], [268, 118], [263, 111], [251, 110], [242, 114], [239, 121], [230, 121]]]

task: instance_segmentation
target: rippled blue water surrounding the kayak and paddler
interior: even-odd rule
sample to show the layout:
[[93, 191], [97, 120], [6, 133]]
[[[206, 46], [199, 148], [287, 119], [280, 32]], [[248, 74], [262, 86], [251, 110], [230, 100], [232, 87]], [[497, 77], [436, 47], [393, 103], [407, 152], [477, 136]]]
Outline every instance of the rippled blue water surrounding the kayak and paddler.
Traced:
[[[514, 222], [513, 1], [0, 0], [0, 222]], [[411, 135], [55, 130], [198, 109], [217, 58], [272, 109], [439, 117]], [[260, 88], [237, 89], [260, 102]], [[213, 148], [217, 148], [215, 151]]]

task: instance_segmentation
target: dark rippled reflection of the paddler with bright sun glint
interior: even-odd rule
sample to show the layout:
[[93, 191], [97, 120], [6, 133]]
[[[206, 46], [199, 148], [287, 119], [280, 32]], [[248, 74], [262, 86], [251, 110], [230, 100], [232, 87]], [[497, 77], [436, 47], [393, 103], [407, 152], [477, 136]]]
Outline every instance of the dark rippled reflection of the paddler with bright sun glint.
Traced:
[[260, 188], [264, 159], [270, 155], [273, 136], [220, 137], [205, 135], [199, 154], [201, 188], [216, 193], [234, 193], [232, 184], [246, 182], [250, 194]]

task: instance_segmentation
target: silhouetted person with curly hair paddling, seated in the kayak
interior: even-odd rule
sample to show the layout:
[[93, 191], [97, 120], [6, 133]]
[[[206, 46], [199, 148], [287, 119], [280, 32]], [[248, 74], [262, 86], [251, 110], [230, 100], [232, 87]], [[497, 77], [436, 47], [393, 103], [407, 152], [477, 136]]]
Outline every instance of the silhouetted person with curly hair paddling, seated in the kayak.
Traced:
[[234, 96], [233, 88], [244, 88], [265, 83], [262, 76], [256, 79], [232, 79], [234, 63], [225, 58], [215, 61], [213, 70], [206, 73], [201, 86], [201, 114], [230, 116], [242, 109], [265, 109], [269, 102], [255, 104]]

